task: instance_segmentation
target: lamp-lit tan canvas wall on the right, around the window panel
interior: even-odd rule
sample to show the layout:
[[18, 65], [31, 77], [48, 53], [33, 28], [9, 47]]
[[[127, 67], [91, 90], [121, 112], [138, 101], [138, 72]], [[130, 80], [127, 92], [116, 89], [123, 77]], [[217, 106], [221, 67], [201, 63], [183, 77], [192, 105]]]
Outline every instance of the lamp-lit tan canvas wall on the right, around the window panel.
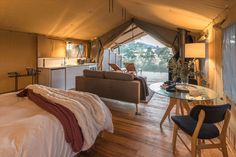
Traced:
[[[226, 21], [220, 24], [223, 19]], [[236, 102], [232, 102], [226, 98], [223, 90], [223, 76], [222, 76], [222, 36], [223, 29], [232, 23], [236, 22], [236, 5], [229, 10], [218, 16], [204, 31], [203, 34], [207, 34], [206, 42], [208, 44], [205, 67], [208, 67], [208, 81], [209, 87], [217, 91], [219, 98], [217, 103], [231, 103], [232, 104], [232, 116], [230, 121], [230, 127], [228, 132], [228, 139], [232, 146], [236, 148]]]

